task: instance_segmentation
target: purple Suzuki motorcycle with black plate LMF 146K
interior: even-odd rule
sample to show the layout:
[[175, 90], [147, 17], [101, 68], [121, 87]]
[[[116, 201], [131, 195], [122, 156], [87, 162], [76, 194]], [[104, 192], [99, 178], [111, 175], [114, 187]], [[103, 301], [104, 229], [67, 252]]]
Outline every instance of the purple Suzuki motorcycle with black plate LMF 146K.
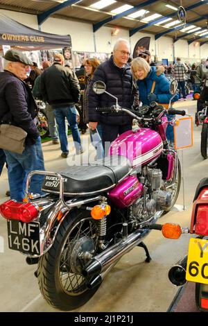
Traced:
[[[105, 84], [97, 82], [93, 89], [101, 94]], [[174, 96], [177, 82], [171, 89]], [[144, 248], [150, 261], [143, 240], [159, 228], [155, 222], [173, 207], [180, 190], [180, 162], [166, 139], [163, 106], [154, 102], [132, 112], [120, 108], [116, 99], [112, 108], [99, 110], [127, 112], [139, 125], [120, 135], [104, 160], [60, 173], [31, 172], [27, 203], [8, 200], [0, 206], [8, 219], [9, 247], [27, 255], [28, 264], [37, 264], [43, 297], [62, 310], [85, 304], [135, 246]], [[35, 173], [45, 175], [46, 196], [29, 194]]]

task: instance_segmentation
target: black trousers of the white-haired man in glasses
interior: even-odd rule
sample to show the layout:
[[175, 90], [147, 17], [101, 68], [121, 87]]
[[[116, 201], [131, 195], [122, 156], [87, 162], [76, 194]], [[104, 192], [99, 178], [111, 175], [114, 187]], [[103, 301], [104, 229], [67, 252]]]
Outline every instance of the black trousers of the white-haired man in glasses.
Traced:
[[105, 156], [107, 156], [107, 152], [110, 148], [110, 144], [114, 141], [119, 135], [123, 134], [123, 132], [131, 130], [132, 124], [128, 124], [125, 126], [118, 125], [107, 125], [105, 123], [101, 123], [102, 127], [102, 142], [103, 148], [105, 152]]

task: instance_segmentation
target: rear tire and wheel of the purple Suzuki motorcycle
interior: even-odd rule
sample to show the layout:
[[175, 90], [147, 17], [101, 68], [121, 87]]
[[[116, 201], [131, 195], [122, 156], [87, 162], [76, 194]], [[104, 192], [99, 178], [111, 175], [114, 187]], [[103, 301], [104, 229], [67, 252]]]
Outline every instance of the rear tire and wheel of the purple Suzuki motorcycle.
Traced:
[[77, 210], [64, 218], [53, 246], [37, 267], [40, 291], [52, 307], [70, 311], [92, 298], [100, 284], [88, 289], [87, 279], [80, 273], [83, 266], [78, 254], [89, 255], [92, 249], [96, 252], [97, 246], [98, 224], [89, 211]]

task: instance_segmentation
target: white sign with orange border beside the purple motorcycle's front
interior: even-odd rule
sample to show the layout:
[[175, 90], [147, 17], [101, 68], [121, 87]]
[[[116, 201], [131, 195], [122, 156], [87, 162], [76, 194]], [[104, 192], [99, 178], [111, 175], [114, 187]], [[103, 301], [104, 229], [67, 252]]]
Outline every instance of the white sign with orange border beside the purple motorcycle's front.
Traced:
[[193, 118], [177, 119], [177, 126], [173, 127], [175, 149], [193, 146]]

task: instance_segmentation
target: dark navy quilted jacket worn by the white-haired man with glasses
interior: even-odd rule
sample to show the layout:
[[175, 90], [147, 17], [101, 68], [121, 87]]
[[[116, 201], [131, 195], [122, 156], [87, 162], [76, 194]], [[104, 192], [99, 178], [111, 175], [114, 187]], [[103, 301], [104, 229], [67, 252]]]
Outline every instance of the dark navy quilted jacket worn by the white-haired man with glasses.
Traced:
[[137, 92], [133, 84], [132, 72], [129, 65], [119, 68], [114, 64], [111, 58], [96, 69], [92, 82], [89, 87], [88, 108], [89, 108], [89, 121], [101, 122], [110, 125], [128, 125], [132, 122], [132, 118], [126, 113], [112, 114], [112, 113], [99, 113], [96, 108], [110, 108], [116, 104], [116, 100], [108, 94], [97, 95], [92, 90], [92, 85], [101, 80], [106, 85], [106, 91], [116, 96], [119, 105], [123, 108], [130, 109], [134, 96]]

